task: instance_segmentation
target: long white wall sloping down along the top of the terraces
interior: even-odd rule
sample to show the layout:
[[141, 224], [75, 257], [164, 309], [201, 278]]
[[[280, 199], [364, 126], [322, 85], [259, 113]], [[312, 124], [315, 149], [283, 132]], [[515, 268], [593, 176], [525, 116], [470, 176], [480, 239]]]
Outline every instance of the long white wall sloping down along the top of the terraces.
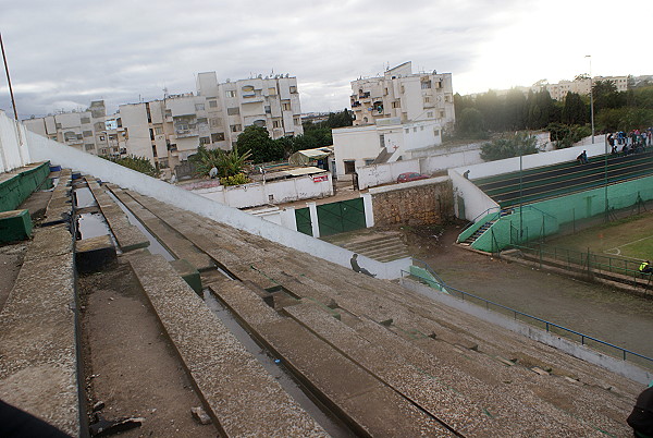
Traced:
[[[147, 177], [143, 173], [109, 162], [99, 157], [85, 154], [72, 147], [52, 142], [40, 135], [28, 133], [27, 144], [35, 161], [50, 160], [52, 165], [74, 168], [83, 173], [88, 173], [112, 182], [121, 187], [133, 190], [146, 196], [151, 196], [163, 203], [193, 211], [197, 215], [226, 223], [236, 229], [260, 235], [273, 242], [292, 247], [299, 252], [335, 263], [350, 268], [349, 259], [354, 254], [330, 243], [308, 236], [297, 231], [254, 217], [236, 208], [219, 203], [208, 202], [207, 198], [190, 193], [167, 182]], [[403, 258], [391, 263], [381, 263], [371, 258], [359, 256], [361, 266], [377, 273], [379, 279], [396, 279], [401, 270], [408, 270], [411, 259]]]

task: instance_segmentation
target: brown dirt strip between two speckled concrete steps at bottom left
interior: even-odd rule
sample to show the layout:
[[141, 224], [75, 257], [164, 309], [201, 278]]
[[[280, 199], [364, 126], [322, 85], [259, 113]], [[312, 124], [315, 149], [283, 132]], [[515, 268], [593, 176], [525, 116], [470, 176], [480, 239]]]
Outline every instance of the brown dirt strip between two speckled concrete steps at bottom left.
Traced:
[[125, 437], [214, 437], [190, 409], [200, 406], [184, 368], [130, 267], [78, 280], [84, 375], [89, 411], [106, 419], [144, 417]]

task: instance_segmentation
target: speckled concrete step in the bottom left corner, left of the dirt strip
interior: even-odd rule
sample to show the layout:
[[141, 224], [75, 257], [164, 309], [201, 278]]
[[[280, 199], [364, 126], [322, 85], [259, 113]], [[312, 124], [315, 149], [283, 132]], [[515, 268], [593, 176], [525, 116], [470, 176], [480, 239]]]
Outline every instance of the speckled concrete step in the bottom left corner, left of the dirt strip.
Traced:
[[37, 229], [0, 314], [0, 399], [79, 434], [73, 238]]

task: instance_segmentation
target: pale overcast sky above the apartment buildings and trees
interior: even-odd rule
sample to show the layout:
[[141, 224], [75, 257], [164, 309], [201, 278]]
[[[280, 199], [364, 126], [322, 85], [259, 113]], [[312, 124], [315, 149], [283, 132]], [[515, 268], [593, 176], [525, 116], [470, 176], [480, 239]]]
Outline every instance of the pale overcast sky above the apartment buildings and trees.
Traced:
[[[0, 0], [19, 114], [45, 115], [296, 76], [301, 110], [341, 111], [349, 82], [412, 61], [470, 94], [592, 75], [653, 74], [653, 0]], [[13, 115], [0, 74], [0, 109]]]

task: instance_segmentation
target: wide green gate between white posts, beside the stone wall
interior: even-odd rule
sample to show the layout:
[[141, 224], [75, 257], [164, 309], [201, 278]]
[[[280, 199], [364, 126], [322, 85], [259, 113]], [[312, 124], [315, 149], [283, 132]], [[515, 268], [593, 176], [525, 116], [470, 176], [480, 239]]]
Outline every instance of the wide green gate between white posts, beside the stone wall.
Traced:
[[[297, 211], [297, 210], [295, 210]], [[318, 206], [320, 236], [366, 228], [365, 204], [362, 198], [341, 200]], [[299, 228], [299, 224], [297, 224]]]

